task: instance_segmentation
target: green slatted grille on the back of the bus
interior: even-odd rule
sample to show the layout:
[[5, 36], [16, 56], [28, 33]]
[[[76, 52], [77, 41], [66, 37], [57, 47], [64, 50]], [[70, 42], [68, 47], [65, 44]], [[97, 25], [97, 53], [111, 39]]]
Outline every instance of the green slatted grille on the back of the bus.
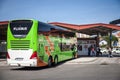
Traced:
[[12, 49], [29, 49], [30, 41], [29, 40], [11, 40]]

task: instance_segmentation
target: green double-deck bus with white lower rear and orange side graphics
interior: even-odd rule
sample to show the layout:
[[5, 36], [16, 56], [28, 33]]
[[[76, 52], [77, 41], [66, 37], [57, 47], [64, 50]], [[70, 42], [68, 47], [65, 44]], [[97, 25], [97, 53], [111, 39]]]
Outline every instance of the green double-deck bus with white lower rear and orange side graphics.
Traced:
[[10, 66], [52, 66], [76, 58], [75, 33], [34, 19], [11, 20], [7, 31]]

